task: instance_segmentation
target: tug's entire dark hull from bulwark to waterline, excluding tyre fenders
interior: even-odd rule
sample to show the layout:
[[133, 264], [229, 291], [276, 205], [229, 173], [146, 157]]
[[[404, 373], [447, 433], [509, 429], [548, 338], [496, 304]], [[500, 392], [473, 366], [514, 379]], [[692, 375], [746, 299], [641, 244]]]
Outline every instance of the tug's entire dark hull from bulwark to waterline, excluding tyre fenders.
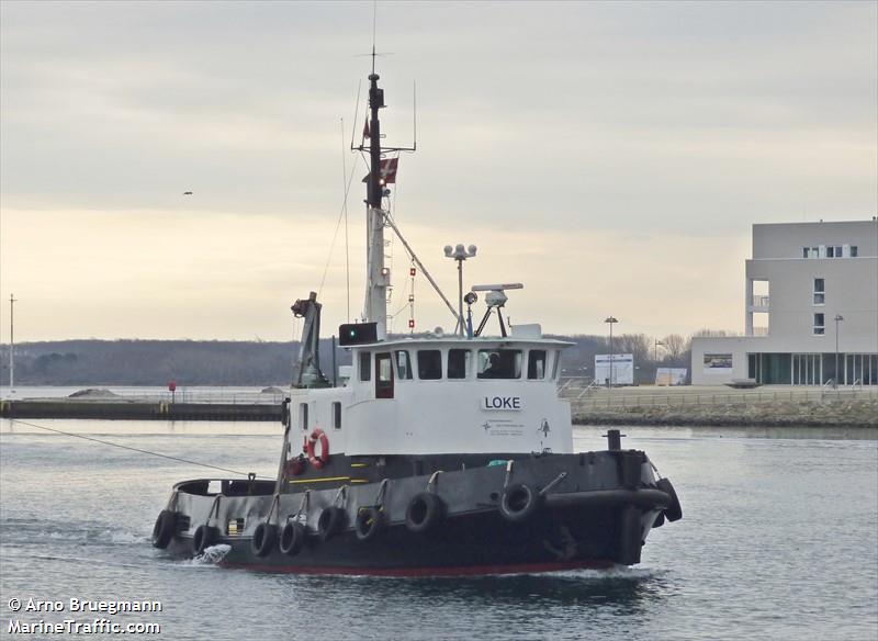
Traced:
[[[192, 481], [179, 484], [169, 503], [175, 531], [167, 547], [175, 555], [196, 555], [199, 529], [210, 529], [201, 549], [227, 546], [209, 551], [222, 565], [302, 574], [440, 576], [632, 565], [665, 513], [679, 518], [671, 516], [676, 497], [669, 483], [657, 483], [667, 485], [656, 484], [638, 451], [548, 454], [307, 493], [288, 487], [275, 494], [273, 482], [239, 481], [209, 493], [207, 481]], [[510, 514], [505, 507], [507, 488], [516, 486], [532, 490], [532, 510]], [[408, 508], [424, 493], [440, 499], [442, 516], [416, 531]], [[354, 519], [375, 505], [384, 525], [362, 540]], [[327, 533], [319, 521], [330, 509], [340, 520]], [[255, 532], [267, 519], [274, 537], [258, 550]], [[277, 533], [292, 522], [303, 524], [306, 535], [289, 554]]]

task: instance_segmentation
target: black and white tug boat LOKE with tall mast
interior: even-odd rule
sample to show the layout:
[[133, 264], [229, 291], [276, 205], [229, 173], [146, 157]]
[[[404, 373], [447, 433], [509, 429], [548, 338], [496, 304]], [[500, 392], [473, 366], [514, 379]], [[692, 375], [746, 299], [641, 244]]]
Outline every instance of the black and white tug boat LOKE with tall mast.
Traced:
[[[258, 571], [390, 576], [530, 573], [633, 565], [652, 528], [683, 516], [671, 481], [646, 454], [575, 452], [569, 402], [558, 391], [562, 351], [539, 325], [509, 326], [508, 290], [460, 295], [454, 334], [389, 337], [384, 209], [395, 162], [382, 145], [384, 92], [369, 76], [367, 292], [361, 323], [339, 328], [351, 366], [323, 373], [322, 305], [304, 319], [283, 402], [274, 480], [198, 479], [173, 486], [153, 544], [173, 555], [222, 550], [219, 564]], [[406, 249], [410, 247], [399, 235]], [[475, 248], [447, 247], [461, 261]], [[425, 271], [412, 252], [413, 260]], [[427, 274], [431, 283], [435, 281]], [[436, 288], [438, 291], [438, 288]], [[473, 329], [472, 305], [487, 308]], [[468, 314], [463, 314], [463, 304]], [[499, 336], [487, 336], [496, 313]], [[223, 546], [222, 548], [214, 548]]]

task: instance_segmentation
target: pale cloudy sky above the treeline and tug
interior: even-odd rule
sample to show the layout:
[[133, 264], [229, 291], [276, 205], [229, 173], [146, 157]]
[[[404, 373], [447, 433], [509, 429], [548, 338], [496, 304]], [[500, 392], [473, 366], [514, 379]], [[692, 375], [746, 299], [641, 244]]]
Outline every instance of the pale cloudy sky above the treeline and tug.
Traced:
[[447, 244], [522, 282], [514, 324], [742, 330], [752, 224], [878, 213], [876, 2], [2, 1], [0, 340], [12, 293], [16, 342], [289, 340], [312, 290], [324, 334], [358, 316], [373, 18], [385, 142], [417, 121], [394, 218], [452, 300]]

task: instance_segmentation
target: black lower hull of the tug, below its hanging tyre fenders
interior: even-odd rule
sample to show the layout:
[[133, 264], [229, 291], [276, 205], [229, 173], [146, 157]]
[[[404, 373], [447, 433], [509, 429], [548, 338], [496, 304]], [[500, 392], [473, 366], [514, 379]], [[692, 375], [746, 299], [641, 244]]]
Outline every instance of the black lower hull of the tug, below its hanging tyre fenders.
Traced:
[[[414, 533], [387, 528], [372, 541], [352, 531], [323, 541], [309, 536], [295, 556], [277, 547], [258, 556], [250, 539], [226, 538], [223, 565], [306, 574], [391, 576], [548, 572], [573, 567], [608, 567], [619, 556], [618, 510], [543, 510], [525, 524], [509, 524], [497, 511], [450, 518], [435, 530]], [[637, 532], [640, 546], [641, 532]], [[171, 550], [192, 555], [192, 540], [179, 539]]]

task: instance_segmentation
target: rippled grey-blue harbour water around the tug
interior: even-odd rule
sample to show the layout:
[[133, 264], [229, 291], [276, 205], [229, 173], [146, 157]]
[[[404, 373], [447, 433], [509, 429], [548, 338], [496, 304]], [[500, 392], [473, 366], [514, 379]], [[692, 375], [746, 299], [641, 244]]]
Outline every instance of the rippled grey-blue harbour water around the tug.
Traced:
[[[273, 424], [34, 423], [266, 475], [281, 443]], [[652, 532], [642, 564], [409, 580], [168, 559], [149, 546], [155, 517], [173, 482], [211, 471], [2, 421], [0, 636], [15, 618], [10, 598], [72, 597], [159, 600], [162, 611], [18, 618], [158, 623], [175, 640], [878, 638], [876, 441], [626, 431], [684, 507]], [[601, 448], [600, 434], [577, 430], [577, 447]]]

